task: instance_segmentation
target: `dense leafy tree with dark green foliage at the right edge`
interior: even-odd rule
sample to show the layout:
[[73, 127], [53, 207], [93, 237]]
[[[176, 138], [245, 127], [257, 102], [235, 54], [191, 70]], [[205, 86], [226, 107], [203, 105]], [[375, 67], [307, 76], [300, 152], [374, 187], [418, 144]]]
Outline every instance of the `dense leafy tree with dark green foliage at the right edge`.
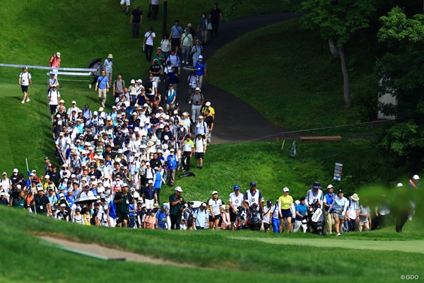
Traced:
[[418, 172], [424, 164], [424, 15], [408, 18], [394, 7], [380, 18], [379, 42], [387, 52], [377, 62], [377, 71], [384, 76], [382, 90], [393, 89], [397, 105], [379, 105], [387, 115], [404, 120], [380, 137], [380, 149], [396, 157], [398, 165], [413, 167]]

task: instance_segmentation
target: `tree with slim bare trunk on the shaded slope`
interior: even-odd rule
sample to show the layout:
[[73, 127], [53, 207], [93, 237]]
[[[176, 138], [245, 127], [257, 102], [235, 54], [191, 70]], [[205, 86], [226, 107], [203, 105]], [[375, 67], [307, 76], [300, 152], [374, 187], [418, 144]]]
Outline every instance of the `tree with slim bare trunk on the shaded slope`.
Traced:
[[329, 42], [331, 54], [340, 57], [345, 108], [351, 108], [344, 46], [353, 33], [369, 26], [370, 16], [375, 13], [375, 0], [304, 0], [301, 11], [303, 28], [319, 30], [321, 37]]

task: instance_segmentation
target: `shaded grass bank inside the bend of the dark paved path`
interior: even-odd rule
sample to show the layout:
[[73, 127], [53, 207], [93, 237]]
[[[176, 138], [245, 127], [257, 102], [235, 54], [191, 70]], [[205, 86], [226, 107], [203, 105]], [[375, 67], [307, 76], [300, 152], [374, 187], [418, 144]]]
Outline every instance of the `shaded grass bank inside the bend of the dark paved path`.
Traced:
[[[225, 66], [232, 70], [231, 75], [211, 71], [208, 81], [247, 101], [270, 122], [285, 129], [363, 122], [375, 117], [376, 76], [372, 64], [365, 59], [370, 54], [361, 50], [364, 46], [353, 43], [348, 47], [351, 110], [343, 107], [340, 63], [331, 59], [328, 45], [317, 33], [300, 28], [299, 20], [254, 30], [218, 50], [208, 60], [208, 68], [214, 70]], [[373, 105], [375, 109], [372, 109]], [[369, 126], [363, 126], [314, 133], [351, 135], [371, 132]]]

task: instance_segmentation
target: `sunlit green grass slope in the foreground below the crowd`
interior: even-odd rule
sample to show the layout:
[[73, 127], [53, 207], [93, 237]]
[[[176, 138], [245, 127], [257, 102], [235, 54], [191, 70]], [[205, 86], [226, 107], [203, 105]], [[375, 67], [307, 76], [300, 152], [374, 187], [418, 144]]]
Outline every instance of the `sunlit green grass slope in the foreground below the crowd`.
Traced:
[[[267, 279], [296, 279], [300, 282], [391, 282], [402, 274], [417, 274], [423, 253], [405, 253], [396, 250], [357, 250], [355, 241], [348, 234], [336, 238], [334, 247], [314, 248], [302, 245], [302, 240], [328, 241], [324, 237], [310, 234], [265, 235], [259, 232], [237, 231], [140, 231], [134, 229], [105, 229], [66, 224], [59, 221], [43, 221], [29, 218], [25, 212], [2, 209], [0, 226], [3, 245], [0, 246], [0, 262], [8, 267], [2, 278], [5, 282], [69, 282], [71, 279], [123, 280], [141, 277], [143, 281], [163, 282], [182, 278], [184, 282], [258, 282]], [[390, 229], [390, 232], [389, 232]], [[387, 232], [374, 234], [372, 240], [384, 236], [388, 240], [416, 238], [418, 226], [408, 222], [401, 235], [393, 227]], [[422, 232], [422, 231], [421, 231]], [[28, 233], [47, 233], [83, 242], [96, 242], [105, 246], [134, 250], [137, 253], [187, 262], [199, 267], [213, 269], [182, 269], [181, 267], [154, 266], [134, 262], [103, 262], [80, 255], [66, 253], [52, 247], [40, 245], [40, 240]], [[59, 235], [58, 235], [59, 234]], [[358, 235], [358, 234], [357, 234]], [[233, 237], [265, 237], [262, 241], [250, 241]], [[297, 238], [298, 244], [293, 245]], [[344, 245], [344, 240], [346, 246]], [[421, 237], [419, 238], [422, 240]], [[278, 245], [272, 242], [280, 242]], [[282, 243], [282, 245], [281, 245]], [[358, 245], [365, 245], [360, 241]], [[395, 243], [395, 242], [393, 242]], [[414, 245], [422, 241], [411, 242]], [[353, 245], [353, 246], [352, 246]], [[325, 244], [323, 245], [325, 246]], [[22, 262], [25, 262], [23, 264]], [[329, 268], [329, 262], [331, 262]], [[372, 265], [372, 268], [370, 268]], [[51, 272], [52, 268], [56, 272]], [[215, 270], [219, 269], [219, 270]], [[101, 270], [93, 272], [93, 270]], [[59, 273], [59, 275], [58, 275]]]

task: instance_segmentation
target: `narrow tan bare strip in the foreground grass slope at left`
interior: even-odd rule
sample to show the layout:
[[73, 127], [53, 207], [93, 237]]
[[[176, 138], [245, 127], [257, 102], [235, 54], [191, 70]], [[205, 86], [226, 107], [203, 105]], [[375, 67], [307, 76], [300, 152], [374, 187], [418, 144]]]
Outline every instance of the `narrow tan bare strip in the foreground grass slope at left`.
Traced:
[[[151, 258], [146, 255], [140, 255], [138, 253], [126, 252], [124, 250], [117, 250], [114, 248], [106, 248], [96, 243], [79, 243], [74, 241], [65, 240], [63, 238], [55, 238], [52, 236], [39, 236], [43, 241], [54, 243], [59, 245], [66, 250], [74, 253], [89, 253], [98, 256], [99, 258], [107, 258], [109, 260], [125, 260], [132, 262], [143, 262], [151, 263], [153, 265], [172, 265], [177, 267], [196, 267], [194, 265], [188, 265], [179, 262], [172, 262], [170, 260], [163, 260], [160, 258]], [[201, 267], [198, 267], [201, 268]]]

